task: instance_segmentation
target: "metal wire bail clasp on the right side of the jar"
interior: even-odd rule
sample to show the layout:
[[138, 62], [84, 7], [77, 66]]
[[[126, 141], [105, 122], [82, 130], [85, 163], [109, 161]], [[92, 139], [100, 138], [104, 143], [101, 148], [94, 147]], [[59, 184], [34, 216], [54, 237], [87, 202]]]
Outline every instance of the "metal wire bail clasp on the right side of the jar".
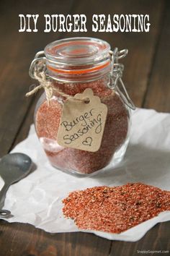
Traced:
[[[135, 105], [130, 99], [125, 85], [122, 82], [122, 72], [124, 70], [124, 65], [119, 63], [119, 59], [125, 58], [125, 56], [127, 56], [128, 49], [118, 51], [118, 48], [115, 48], [114, 51], [109, 51], [109, 54], [111, 56], [111, 71], [110, 80], [107, 86], [111, 90], [116, 90], [125, 105], [135, 110]], [[121, 85], [122, 90], [120, 90], [119, 84]]]

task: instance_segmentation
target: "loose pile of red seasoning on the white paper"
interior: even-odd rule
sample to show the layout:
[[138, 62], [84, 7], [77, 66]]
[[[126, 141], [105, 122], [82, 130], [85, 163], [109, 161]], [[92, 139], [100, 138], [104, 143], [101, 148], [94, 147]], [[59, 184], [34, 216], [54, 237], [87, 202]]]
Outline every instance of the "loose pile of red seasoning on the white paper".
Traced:
[[63, 214], [79, 229], [120, 233], [170, 210], [170, 192], [141, 183], [71, 192]]

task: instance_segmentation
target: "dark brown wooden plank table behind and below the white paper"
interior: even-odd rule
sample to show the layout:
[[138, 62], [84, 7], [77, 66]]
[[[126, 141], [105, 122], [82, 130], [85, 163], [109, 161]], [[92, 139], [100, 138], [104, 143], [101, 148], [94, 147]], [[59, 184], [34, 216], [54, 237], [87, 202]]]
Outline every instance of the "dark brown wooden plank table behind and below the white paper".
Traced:
[[[27, 137], [39, 93], [24, 94], [32, 80], [30, 61], [47, 43], [71, 36], [93, 36], [128, 48], [124, 81], [135, 105], [170, 111], [170, 1], [1, 1], [0, 141], [1, 156]], [[92, 33], [92, 14], [149, 14], [149, 33]], [[18, 14], [40, 14], [37, 33], [19, 33]], [[44, 33], [43, 14], [86, 14], [87, 33]], [[0, 255], [140, 255], [138, 250], [170, 249], [169, 223], [153, 227], [138, 242], [111, 242], [93, 234], [49, 234], [34, 226], [0, 221]], [[149, 255], [154, 255], [150, 253]], [[168, 255], [168, 254], [166, 254]]]

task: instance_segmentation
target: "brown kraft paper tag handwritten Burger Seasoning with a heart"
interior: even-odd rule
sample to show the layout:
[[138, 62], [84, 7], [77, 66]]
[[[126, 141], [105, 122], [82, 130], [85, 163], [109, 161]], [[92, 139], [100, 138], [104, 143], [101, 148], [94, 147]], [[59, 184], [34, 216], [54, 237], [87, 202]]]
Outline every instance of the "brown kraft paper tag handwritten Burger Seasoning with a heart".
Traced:
[[63, 105], [58, 144], [96, 152], [102, 142], [106, 118], [107, 106], [94, 96], [91, 89], [68, 98]]

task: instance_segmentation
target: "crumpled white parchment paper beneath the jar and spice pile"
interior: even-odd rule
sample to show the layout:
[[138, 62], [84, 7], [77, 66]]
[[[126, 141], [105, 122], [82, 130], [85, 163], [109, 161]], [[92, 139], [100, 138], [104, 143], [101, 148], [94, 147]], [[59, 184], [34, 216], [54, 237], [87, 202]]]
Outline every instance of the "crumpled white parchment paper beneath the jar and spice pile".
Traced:
[[[170, 114], [138, 108], [133, 112], [130, 144], [125, 158], [115, 167], [96, 176], [78, 178], [50, 166], [32, 125], [27, 139], [12, 152], [26, 153], [37, 168], [13, 184], [6, 195], [4, 209], [11, 210], [9, 222], [30, 223], [48, 232], [80, 231], [72, 220], [63, 217], [62, 200], [77, 189], [118, 186], [143, 182], [170, 190]], [[0, 181], [0, 189], [3, 181]], [[121, 234], [89, 231], [107, 239], [135, 242], [156, 223], [169, 221], [170, 211], [145, 221]]]

